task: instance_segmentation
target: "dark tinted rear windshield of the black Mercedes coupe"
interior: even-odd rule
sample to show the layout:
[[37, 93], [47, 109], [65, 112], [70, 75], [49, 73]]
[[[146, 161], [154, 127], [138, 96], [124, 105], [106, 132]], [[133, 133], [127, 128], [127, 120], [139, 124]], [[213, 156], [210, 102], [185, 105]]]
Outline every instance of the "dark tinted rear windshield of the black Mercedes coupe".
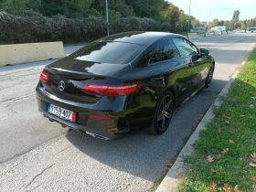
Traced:
[[92, 62], [126, 64], [144, 50], [144, 46], [122, 42], [93, 42], [71, 54], [69, 58]]

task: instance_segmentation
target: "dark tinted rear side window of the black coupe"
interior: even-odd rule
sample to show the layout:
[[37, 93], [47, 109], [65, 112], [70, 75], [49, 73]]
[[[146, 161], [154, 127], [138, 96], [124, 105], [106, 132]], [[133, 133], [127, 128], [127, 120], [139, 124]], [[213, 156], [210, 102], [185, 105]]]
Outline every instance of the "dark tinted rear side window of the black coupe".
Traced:
[[149, 64], [178, 57], [180, 57], [179, 52], [173, 41], [169, 39], [159, 47], [155, 48], [151, 58], [149, 59]]

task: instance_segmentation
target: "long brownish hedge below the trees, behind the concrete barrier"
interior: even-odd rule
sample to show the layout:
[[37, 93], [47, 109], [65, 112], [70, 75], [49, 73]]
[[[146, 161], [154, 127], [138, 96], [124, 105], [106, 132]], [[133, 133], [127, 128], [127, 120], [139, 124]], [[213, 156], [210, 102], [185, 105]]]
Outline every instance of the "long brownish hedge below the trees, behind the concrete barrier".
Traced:
[[[34, 43], [63, 41], [64, 43], [91, 42], [106, 36], [106, 21], [101, 17], [84, 19], [65, 16], [42, 16], [27, 11], [22, 16], [0, 12], [0, 42]], [[161, 31], [161, 23], [150, 18], [123, 17], [112, 20], [110, 33], [124, 31]]]

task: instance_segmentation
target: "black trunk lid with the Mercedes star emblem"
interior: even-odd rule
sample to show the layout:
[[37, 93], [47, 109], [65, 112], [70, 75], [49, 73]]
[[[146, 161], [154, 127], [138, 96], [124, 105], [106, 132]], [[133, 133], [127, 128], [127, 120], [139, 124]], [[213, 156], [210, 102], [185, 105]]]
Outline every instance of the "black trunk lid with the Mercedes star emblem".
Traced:
[[88, 94], [82, 89], [91, 83], [111, 84], [131, 69], [129, 64], [96, 63], [77, 59], [60, 59], [45, 69], [48, 82], [41, 82], [46, 91], [70, 101], [97, 102], [100, 95]]

